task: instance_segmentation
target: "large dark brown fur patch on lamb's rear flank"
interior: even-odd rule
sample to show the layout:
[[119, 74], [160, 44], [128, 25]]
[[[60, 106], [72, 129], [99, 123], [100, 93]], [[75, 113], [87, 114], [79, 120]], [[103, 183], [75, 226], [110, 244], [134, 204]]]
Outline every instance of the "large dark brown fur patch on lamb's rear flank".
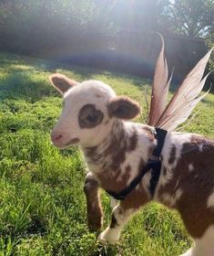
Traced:
[[[203, 151], [199, 147], [203, 146]], [[189, 164], [194, 170], [189, 172]], [[176, 208], [193, 238], [200, 238], [210, 225], [214, 224], [213, 210], [207, 207], [207, 200], [214, 187], [214, 142], [200, 136], [192, 136], [191, 142], [183, 144], [181, 157], [172, 170], [173, 177], [158, 190], [173, 196], [177, 188], [182, 190]], [[176, 187], [176, 184], [179, 185]]]

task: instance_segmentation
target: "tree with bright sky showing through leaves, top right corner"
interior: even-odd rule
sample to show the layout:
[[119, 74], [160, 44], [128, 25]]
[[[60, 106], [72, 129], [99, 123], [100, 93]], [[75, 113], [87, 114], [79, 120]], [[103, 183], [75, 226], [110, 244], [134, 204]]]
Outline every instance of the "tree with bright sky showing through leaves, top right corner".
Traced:
[[214, 26], [213, 0], [175, 0], [168, 5], [166, 15], [170, 19], [173, 34], [205, 37]]

